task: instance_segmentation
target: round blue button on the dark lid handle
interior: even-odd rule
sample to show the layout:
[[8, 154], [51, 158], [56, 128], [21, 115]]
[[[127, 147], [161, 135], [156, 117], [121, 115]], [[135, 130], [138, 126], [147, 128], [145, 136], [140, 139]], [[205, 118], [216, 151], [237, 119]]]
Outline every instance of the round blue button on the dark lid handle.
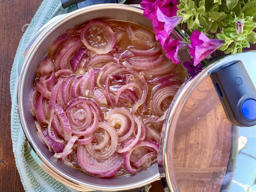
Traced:
[[256, 119], [256, 101], [254, 99], [247, 99], [243, 102], [242, 114], [246, 119], [254, 120]]

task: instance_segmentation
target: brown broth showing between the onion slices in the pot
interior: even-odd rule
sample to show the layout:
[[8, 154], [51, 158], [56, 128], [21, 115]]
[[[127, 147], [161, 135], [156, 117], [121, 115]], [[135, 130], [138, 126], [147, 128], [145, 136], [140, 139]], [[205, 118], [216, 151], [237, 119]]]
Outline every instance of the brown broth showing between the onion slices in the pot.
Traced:
[[[132, 40], [130, 40], [130, 38], [129, 38], [129, 36], [128, 36], [128, 33], [125, 32], [125, 34], [124, 34], [124, 36], [122, 37], [122, 39], [120, 39], [120, 41], [119, 41], [118, 43], [116, 43], [115, 46], [114, 46], [114, 47], [118, 50], [119, 53], [124, 53], [125, 51], [128, 50], [128, 47], [130, 47], [130, 46], [133, 46], [133, 47], [135, 47], [135, 48], [137, 48], [137, 49], [140, 49], [140, 50], [148, 50], [148, 49], [151, 49], [152, 47], [155, 47], [156, 45], [159, 45], [159, 42], [156, 42], [155, 40], [154, 40], [154, 41], [150, 41], [150, 40], [152, 39], [152, 37], [154, 38], [155, 33], [154, 33], [153, 31], [151, 31], [151, 30], [149, 30], [149, 29], [143, 27], [143, 26], [140, 26], [140, 25], [135, 24], [135, 23], [127, 22], [127, 21], [120, 21], [120, 20], [102, 20], [102, 21], [103, 21], [104, 23], [108, 24], [114, 32], [117, 32], [117, 31], [120, 31], [120, 30], [121, 30], [121, 31], [126, 31], [127, 28], [130, 28], [132, 31], [144, 30], [144, 31], [146, 31], [146, 32], [148, 33], [148, 36], [140, 35], [140, 36], [138, 37], [140, 40], [133, 40], [133, 41], [132, 41]], [[85, 23], [84, 25], [86, 25], [86, 24], [87, 24], [87, 23]], [[81, 29], [84, 25], [81, 25], [81, 27], [78, 27], [78, 29]], [[75, 32], [72, 34], [73, 37], [79, 37], [79, 35], [80, 35], [79, 30], [75, 31]], [[94, 35], [95, 35], [95, 34], [90, 33], [91, 40], [94, 40], [94, 39], [95, 39], [95, 36], [94, 36]], [[102, 34], [101, 34], [101, 35], [102, 35]], [[101, 37], [101, 38], [102, 38], [102, 37]], [[97, 38], [96, 38], [96, 39], [97, 39]], [[61, 46], [60, 46], [60, 49], [61, 49]], [[58, 53], [57, 53], [57, 54], [58, 54]], [[53, 60], [55, 60], [57, 54], [55, 54], [55, 55], [52, 57]], [[75, 53], [74, 53], [74, 54], [75, 54]], [[73, 54], [73, 55], [74, 55], [74, 54]], [[88, 57], [83, 60], [84, 66], [86, 66], [86, 63], [88, 62], [88, 59], [89, 59], [90, 57], [94, 56], [95, 54], [96, 54], [96, 53], [95, 53], [94, 51], [89, 51]], [[116, 54], [117, 54], [117, 53], [113, 53], [112, 55], [115, 56]], [[163, 50], [161, 50], [161, 54], [164, 55]], [[72, 56], [73, 56], [73, 55], [72, 55]], [[159, 55], [160, 55], [160, 54], [159, 54]], [[72, 56], [71, 56], [71, 57], [72, 57]], [[165, 62], [167, 62], [167, 61], [168, 61], [168, 59], [165, 58]], [[122, 62], [125, 62], [125, 59], [120, 60], [121, 65], [122, 65]], [[97, 65], [97, 66], [94, 66], [94, 69], [100, 69], [100, 70], [102, 70], [102, 68], [105, 66], [105, 64], [106, 64], [106, 63], [103, 63], [103, 64], [99, 64], [99, 65]], [[80, 68], [84, 68], [84, 70], [85, 70], [85, 72], [86, 72], [87, 69], [86, 69], [84, 66], [83, 66], [83, 67], [80, 67]], [[124, 67], [124, 66], [123, 66], [123, 67]], [[163, 75], [159, 75], [159, 76], [164, 76], [164, 75], [168, 75], [168, 74], [173, 74], [173, 77], [172, 77], [172, 78], [177, 79], [177, 80], [180, 80], [180, 82], [179, 82], [179, 83], [176, 83], [175, 85], [176, 85], [176, 86], [180, 86], [180, 85], [183, 83], [185, 77], [187, 76], [187, 73], [186, 73], [185, 68], [183, 67], [182, 64], [171, 65], [170, 67], [172, 67], [171, 72], [166, 73], [166, 74], [163, 74]], [[68, 65], [68, 69], [71, 69], [70, 65]], [[72, 70], [72, 69], [71, 69], [71, 70]], [[145, 73], [144, 73], [145, 70], [138, 70], [138, 69], [133, 69], [133, 70], [136, 71], [136, 72], [138, 72], [139, 74], [143, 75], [144, 78], [145, 78], [145, 80], [146, 80], [146, 82], [148, 82], [149, 80], [152, 80], [153, 78], [159, 77], [159, 76], [152, 76], [152, 77], [151, 77], [151, 76], [145, 76]], [[75, 73], [73, 72], [73, 74], [75, 74]], [[133, 75], [131, 75], [131, 74], [126, 74], [126, 75], [129, 76], [129, 78], [130, 78], [130, 79], [129, 79], [129, 82], [134, 82], [134, 81], [136, 81], [136, 78], [135, 78]], [[36, 77], [39, 78], [40, 75], [37, 74]], [[134, 79], [134, 78], [135, 78], [135, 79]], [[97, 79], [97, 76], [95, 76], [95, 79]], [[105, 83], [105, 82], [104, 82], [104, 83]], [[110, 85], [110, 89], [109, 89], [110, 94], [114, 96], [114, 95], [115, 95], [115, 92], [116, 92], [114, 87], [118, 85], [118, 82], [112, 80], [112, 82], [110, 82], [109, 85]], [[102, 86], [105, 87], [104, 84], [102, 84]], [[138, 116], [139, 118], [142, 118], [142, 119], [144, 119], [145, 117], [151, 117], [151, 116], [152, 116], [151, 107], [150, 107], [150, 106], [151, 106], [151, 99], [152, 99], [152, 90], [153, 90], [153, 88], [154, 88], [155, 86], [157, 86], [157, 85], [151, 85], [151, 84], [147, 83], [147, 86], [148, 86], [148, 94], [147, 94], [147, 99], [146, 99], [147, 102], [148, 102], [147, 110], [146, 110], [144, 113], [140, 113], [139, 111], [140, 111], [140, 109], [141, 109], [141, 107], [142, 107], [142, 106], [140, 106], [140, 107], [138, 108], [136, 114], [134, 114], [134, 116]], [[95, 80], [95, 89], [101, 89], [100, 87], [97, 86], [96, 80]], [[135, 92], [135, 93], [138, 93], [139, 91], [138, 91], [138, 90], [135, 90], [134, 92]], [[138, 94], [137, 94], [137, 95], [138, 95]], [[90, 98], [95, 100], [94, 97], [90, 97]], [[140, 99], [140, 98], [139, 98], [139, 99]], [[167, 100], [168, 100], [167, 103], [170, 103], [172, 99], [173, 99], [172, 97], [168, 97], [168, 98], [167, 98]], [[163, 106], [163, 104], [161, 104], [161, 106], [162, 106], [163, 109], [165, 109], [165, 110], [167, 109], [166, 107]], [[115, 106], [115, 107], [118, 107], [118, 106]], [[128, 110], [131, 110], [132, 104], [131, 104], [131, 105], [123, 104], [123, 106], [119, 106], [119, 107], [127, 108]], [[104, 116], [106, 116], [106, 115], [108, 114], [108, 112], [112, 109], [112, 107], [111, 107], [110, 105], [101, 106], [100, 108], [101, 108], [102, 113], [104, 114]], [[156, 124], [151, 124], [150, 126], [152, 127], [152, 129], [156, 130], [156, 131], [160, 134], [160, 132], [161, 132], [161, 124], [160, 124], [159, 126], [156, 125]], [[47, 126], [46, 126], [45, 124], [42, 124], [42, 127], [43, 127], [44, 129], [47, 128]], [[118, 130], [118, 127], [116, 127], [116, 129]], [[98, 135], [97, 137], [100, 138], [101, 135], [102, 135], [102, 130], [101, 130], [101, 129], [98, 129], [97, 132], [98, 132], [98, 133], [97, 133], [97, 135]], [[97, 138], [96, 138], [96, 139], [93, 141], [93, 144], [96, 145], [97, 143], [98, 143], [98, 141], [97, 141]], [[119, 145], [121, 145], [121, 144], [119, 144]], [[73, 152], [72, 152], [70, 155], [68, 155], [69, 163], [66, 163], [66, 164], [67, 164], [68, 166], [71, 166], [71, 167], [74, 167], [74, 168], [77, 168], [77, 169], [82, 170], [79, 166], [76, 165], [76, 162], [75, 162], [75, 160], [74, 160], [74, 158], [73, 158], [74, 153], [76, 153], [76, 150], [77, 150], [77, 145], [75, 145], [75, 146], [73, 147], [73, 149], [74, 149]], [[146, 166], [146, 167], [150, 167], [150, 166], [152, 166], [153, 164], [155, 164], [156, 162], [157, 162], [156, 159], [152, 159], [151, 162], [147, 162], [147, 164], [146, 164], [145, 166]], [[121, 167], [120, 169], [121, 169], [121, 172], [124, 172], [124, 167]], [[90, 174], [90, 173], [88, 173], [88, 174]], [[126, 173], [123, 173], [123, 174], [121, 174], [121, 175], [119, 175], [119, 176], [123, 176], [123, 175], [127, 175], [127, 174], [129, 174], [129, 173], [126, 172]], [[92, 175], [92, 174], [90, 174], [90, 175]]]

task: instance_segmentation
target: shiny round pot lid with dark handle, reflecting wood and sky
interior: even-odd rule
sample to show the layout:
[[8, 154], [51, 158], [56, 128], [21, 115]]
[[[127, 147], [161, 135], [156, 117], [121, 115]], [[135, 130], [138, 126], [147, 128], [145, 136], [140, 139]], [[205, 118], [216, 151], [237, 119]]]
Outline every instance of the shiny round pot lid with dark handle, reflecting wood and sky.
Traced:
[[166, 191], [256, 191], [254, 58], [221, 58], [175, 96], [158, 155]]

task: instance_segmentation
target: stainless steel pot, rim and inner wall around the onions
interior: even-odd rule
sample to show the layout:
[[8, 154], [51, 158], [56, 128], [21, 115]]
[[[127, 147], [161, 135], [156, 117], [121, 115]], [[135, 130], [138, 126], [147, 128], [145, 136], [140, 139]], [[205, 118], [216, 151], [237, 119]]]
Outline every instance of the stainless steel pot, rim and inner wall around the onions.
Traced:
[[[17, 94], [20, 123], [32, 148], [31, 154], [34, 159], [48, 174], [67, 186], [80, 191], [123, 191], [140, 188], [160, 178], [157, 165], [137, 175], [107, 179], [96, 178], [70, 168], [60, 160], [55, 159], [53, 154], [40, 141], [36, 133], [34, 118], [29, 109], [29, 92], [33, 85], [38, 64], [44, 57], [48, 46], [67, 29], [95, 18], [128, 20], [152, 29], [151, 21], [143, 16], [141, 8], [121, 4], [88, 6], [50, 20], [31, 40], [24, 52], [24, 58], [20, 61], [20, 64], [23, 63], [22, 68], [19, 69]], [[177, 38], [183, 39], [185, 32], [176, 29], [175, 35]]]

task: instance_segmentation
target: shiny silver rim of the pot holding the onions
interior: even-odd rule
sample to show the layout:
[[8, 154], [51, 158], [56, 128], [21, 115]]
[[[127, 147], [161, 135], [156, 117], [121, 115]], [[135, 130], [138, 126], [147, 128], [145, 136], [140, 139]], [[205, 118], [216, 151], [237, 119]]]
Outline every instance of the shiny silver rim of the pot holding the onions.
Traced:
[[[40, 148], [34, 144], [33, 138], [28, 130], [26, 119], [25, 119], [25, 111], [23, 108], [23, 88], [24, 88], [24, 81], [25, 77], [27, 75], [27, 70], [29, 65], [31, 65], [31, 59], [34, 57], [36, 50], [38, 49], [38, 46], [47, 38], [47, 34], [55, 29], [57, 29], [60, 25], [64, 24], [66, 21], [68, 21], [71, 18], [77, 17], [84, 12], [91, 12], [91, 11], [96, 11], [96, 10], [101, 10], [101, 9], [122, 9], [122, 10], [127, 10], [131, 12], [136, 12], [141, 15], [143, 15], [143, 9], [138, 8], [137, 6], [132, 6], [132, 5], [125, 5], [125, 4], [114, 4], [114, 3], [109, 3], [109, 4], [97, 4], [97, 5], [91, 5], [87, 6], [85, 8], [81, 8], [78, 10], [75, 10], [73, 12], [63, 14], [62, 18], [58, 18], [56, 21], [52, 22], [51, 25], [47, 26], [44, 28], [43, 31], [35, 38], [34, 42], [32, 42], [31, 47], [29, 47], [29, 50], [27, 52], [27, 55], [24, 59], [22, 69], [19, 74], [18, 78], [18, 89], [17, 89], [17, 106], [18, 106], [18, 115], [20, 119], [20, 123], [22, 125], [23, 132], [25, 133], [25, 136], [31, 145], [31, 148], [34, 150], [34, 152], [37, 154], [39, 159], [42, 161], [43, 165], [45, 165], [45, 168], [43, 165], [42, 168], [47, 169], [45, 170], [48, 174], [53, 176], [55, 179], [59, 180], [60, 182], [63, 183], [63, 178], [65, 181], [66, 185], [74, 188], [76, 187], [77, 189], [90, 189], [90, 190], [104, 190], [104, 191], [122, 191], [122, 190], [129, 190], [129, 189], [134, 189], [134, 188], [139, 188], [143, 187], [146, 184], [150, 184], [156, 180], [159, 179], [159, 173], [154, 174], [152, 177], [147, 178], [143, 181], [137, 181], [132, 184], [129, 184], [129, 186], [117, 186], [117, 187], [106, 187], [106, 186], [95, 186], [90, 183], [84, 183], [81, 182], [80, 180], [77, 180], [76, 178], [68, 176], [65, 172], [61, 171], [58, 167], [55, 167], [53, 163], [49, 162], [47, 158], [44, 156]], [[46, 25], [46, 24], [45, 24]], [[44, 26], [45, 26], [44, 25]], [[37, 34], [36, 34], [37, 35]], [[33, 39], [32, 39], [33, 40]], [[30, 42], [31, 43], [31, 42]], [[27, 49], [26, 49], [27, 51]], [[154, 165], [157, 166], [157, 165]], [[54, 168], [53, 168], [54, 167]], [[54, 174], [49, 173], [49, 169], [51, 172], [54, 172]], [[59, 178], [58, 178], [59, 177]]]

